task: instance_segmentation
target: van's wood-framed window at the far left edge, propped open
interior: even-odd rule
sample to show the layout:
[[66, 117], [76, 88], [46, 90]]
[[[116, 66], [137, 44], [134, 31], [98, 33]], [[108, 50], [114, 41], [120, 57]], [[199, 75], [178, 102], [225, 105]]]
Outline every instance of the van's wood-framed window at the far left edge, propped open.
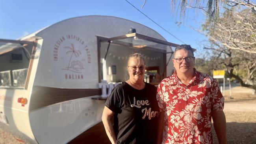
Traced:
[[0, 39], [0, 87], [24, 87], [33, 42]]

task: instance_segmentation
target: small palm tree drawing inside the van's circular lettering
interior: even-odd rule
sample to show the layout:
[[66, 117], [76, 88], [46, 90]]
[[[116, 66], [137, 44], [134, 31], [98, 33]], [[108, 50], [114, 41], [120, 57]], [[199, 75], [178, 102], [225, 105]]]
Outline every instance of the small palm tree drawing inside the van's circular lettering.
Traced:
[[65, 46], [64, 48], [66, 48], [68, 50], [66, 52], [66, 54], [71, 54], [70, 59], [69, 59], [69, 65], [66, 67], [67, 69], [65, 69], [65, 70], [78, 72], [79, 70], [83, 69], [83, 63], [81, 63], [81, 61], [76, 60], [76, 61], [71, 62], [73, 55], [75, 57], [79, 57], [81, 55], [80, 50], [75, 49], [73, 43], [71, 43], [71, 46]]

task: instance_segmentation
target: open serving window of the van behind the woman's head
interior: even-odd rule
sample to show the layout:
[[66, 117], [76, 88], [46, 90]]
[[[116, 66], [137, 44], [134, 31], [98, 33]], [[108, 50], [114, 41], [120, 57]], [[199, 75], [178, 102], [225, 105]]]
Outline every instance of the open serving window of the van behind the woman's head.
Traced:
[[[105, 38], [97, 37], [100, 55], [100, 79], [110, 82], [126, 81], [127, 61], [130, 54], [144, 55], [146, 69], [144, 81], [158, 84], [166, 76], [167, 48], [178, 46], [171, 42], [148, 37], [138, 33]], [[115, 65], [115, 67], [113, 67]], [[99, 79], [99, 81], [100, 81]]]

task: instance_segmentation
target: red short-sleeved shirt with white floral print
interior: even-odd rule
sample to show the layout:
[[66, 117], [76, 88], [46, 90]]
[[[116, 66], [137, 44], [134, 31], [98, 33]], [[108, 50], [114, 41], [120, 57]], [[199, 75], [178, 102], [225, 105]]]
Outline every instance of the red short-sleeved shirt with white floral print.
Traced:
[[212, 144], [211, 111], [222, 111], [224, 97], [216, 79], [195, 70], [184, 85], [176, 71], [158, 85], [158, 105], [165, 112], [165, 144]]

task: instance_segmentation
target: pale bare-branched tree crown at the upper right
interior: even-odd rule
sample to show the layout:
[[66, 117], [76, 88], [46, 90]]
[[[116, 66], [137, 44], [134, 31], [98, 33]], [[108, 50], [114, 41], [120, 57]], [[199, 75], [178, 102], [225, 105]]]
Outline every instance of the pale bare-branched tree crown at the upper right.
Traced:
[[226, 10], [219, 22], [214, 26], [206, 22], [204, 28], [210, 30], [206, 34], [210, 41], [229, 49], [256, 54], [256, 15], [249, 9]]

